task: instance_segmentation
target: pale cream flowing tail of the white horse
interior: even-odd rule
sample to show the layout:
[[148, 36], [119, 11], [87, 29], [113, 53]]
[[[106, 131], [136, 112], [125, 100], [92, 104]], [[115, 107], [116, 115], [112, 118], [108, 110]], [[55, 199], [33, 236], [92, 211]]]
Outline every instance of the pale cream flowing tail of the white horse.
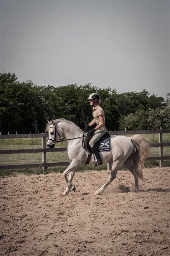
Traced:
[[146, 142], [145, 138], [141, 135], [133, 135], [131, 137], [132, 141], [135, 142], [135, 151], [133, 154], [133, 164], [134, 164], [134, 176], [136, 178], [140, 178], [141, 180], [145, 181], [142, 173], [142, 169], [144, 167], [143, 163], [145, 162], [146, 158], [149, 156], [150, 147], [149, 144]]

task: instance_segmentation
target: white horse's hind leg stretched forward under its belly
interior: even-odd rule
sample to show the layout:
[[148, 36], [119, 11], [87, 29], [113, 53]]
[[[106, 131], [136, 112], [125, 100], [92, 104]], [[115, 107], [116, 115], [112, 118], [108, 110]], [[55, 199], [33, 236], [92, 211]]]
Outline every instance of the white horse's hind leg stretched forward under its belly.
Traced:
[[104, 191], [104, 189], [110, 184], [110, 182], [112, 182], [112, 180], [114, 180], [116, 178], [116, 174], [117, 174], [117, 171], [119, 169], [119, 167], [122, 165], [122, 161], [115, 161], [113, 162], [112, 164], [112, 169], [110, 171], [110, 175], [109, 175], [109, 179], [106, 181], [106, 183], [101, 187], [99, 188], [99, 190], [97, 190], [94, 195], [101, 195]]

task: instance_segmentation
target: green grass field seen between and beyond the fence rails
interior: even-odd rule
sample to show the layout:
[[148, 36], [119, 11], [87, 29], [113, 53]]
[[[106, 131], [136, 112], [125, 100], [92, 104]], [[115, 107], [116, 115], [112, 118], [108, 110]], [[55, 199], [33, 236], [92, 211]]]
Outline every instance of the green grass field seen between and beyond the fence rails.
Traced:
[[[131, 135], [127, 135], [131, 136]], [[148, 143], [158, 143], [158, 134], [143, 134], [142, 135]], [[47, 139], [46, 139], [47, 142]], [[170, 142], [170, 134], [163, 134], [163, 142]], [[56, 143], [56, 147], [66, 147], [66, 143]], [[0, 139], [0, 150], [10, 149], [36, 149], [41, 148], [41, 139]], [[170, 147], [163, 147], [163, 155], [170, 156]], [[159, 148], [151, 148], [150, 157], [159, 156]], [[47, 163], [49, 162], [68, 162], [69, 157], [67, 152], [50, 152], [47, 153]], [[28, 164], [28, 163], [41, 163], [42, 153], [24, 153], [24, 154], [1, 154], [0, 165], [16, 165], [16, 164]], [[145, 162], [145, 167], [157, 167], [159, 161]], [[164, 166], [170, 166], [170, 160], [164, 161]], [[46, 172], [63, 172], [66, 169], [65, 166], [47, 168]], [[124, 166], [121, 168], [126, 170]], [[94, 167], [91, 165], [82, 166], [79, 170], [107, 170], [107, 165]], [[43, 173], [41, 168], [32, 169], [18, 169], [18, 170], [1, 170], [0, 175], [11, 175], [16, 173]]]

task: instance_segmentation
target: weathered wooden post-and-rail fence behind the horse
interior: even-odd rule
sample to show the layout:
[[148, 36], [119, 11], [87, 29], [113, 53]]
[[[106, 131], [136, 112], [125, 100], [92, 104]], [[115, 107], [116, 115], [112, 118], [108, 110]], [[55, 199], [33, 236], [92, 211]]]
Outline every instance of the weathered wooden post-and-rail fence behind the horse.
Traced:
[[[170, 130], [144, 130], [144, 131], [110, 131], [111, 135], [127, 135], [127, 134], [158, 134], [159, 143], [150, 144], [150, 147], [159, 147], [158, 157], [148, 157], [146, 161], [159, 160], [160, 167], [162, 167], [163, 160], [170, 160], [170, 156], [163, 156], [163, 147], [169, 147], [170, 143], [163, 143], [162, 134], [170, 133]], [[13, 150], [0, 150], [0, 154], [18, 154], [18, 153], [42, 153], [42, 163], [31, 163], [24, 165], [4, 165], [0, 166], [0, 170], [6, 169], [23, 169], [23, 168], [37, 168], [42, 167], [44, 170], [51, 166], [67, 166], [70, 162], [54, 162], [47, 163], [47, 152], [61, 152], [67, 151], [67, 148], [46, 148], [46, 138], [48, 134], [11, 134], [0, 135], [0, 139], [15, 139], [15, 138], [41, 138], [41, 148], [39, 149], [13, 149]], [[110, 170], [111, 163], [108, 163], [108, 170]]]

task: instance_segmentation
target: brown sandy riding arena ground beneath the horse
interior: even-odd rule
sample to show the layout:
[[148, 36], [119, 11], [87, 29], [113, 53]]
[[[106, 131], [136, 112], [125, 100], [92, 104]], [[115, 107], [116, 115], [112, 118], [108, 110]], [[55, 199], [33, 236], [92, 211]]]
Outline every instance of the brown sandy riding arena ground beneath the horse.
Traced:
[[108, 174], [76, 172], [66, 197], [62, 174], [1, 178], [1, 255], [169, 255], [170, 168], [144, 170], [138, 193], [118, 171], [94, 196]]

